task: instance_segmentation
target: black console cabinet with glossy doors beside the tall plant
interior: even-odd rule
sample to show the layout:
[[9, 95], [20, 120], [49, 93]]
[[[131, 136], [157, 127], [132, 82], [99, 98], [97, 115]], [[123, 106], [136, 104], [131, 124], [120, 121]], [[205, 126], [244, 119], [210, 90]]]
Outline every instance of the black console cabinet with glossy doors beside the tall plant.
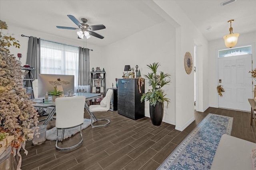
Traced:
[[139, 92], [138, 78], [118, 79], [118, 113], [131, 119], [144, 117], [144, 102], [140, 102], [144, 85]]

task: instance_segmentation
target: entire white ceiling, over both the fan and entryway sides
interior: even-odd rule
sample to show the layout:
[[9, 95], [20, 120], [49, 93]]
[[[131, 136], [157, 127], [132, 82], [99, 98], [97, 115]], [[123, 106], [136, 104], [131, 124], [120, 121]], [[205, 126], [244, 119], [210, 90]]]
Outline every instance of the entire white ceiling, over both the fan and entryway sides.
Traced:
[[[237, 0], [220, 6], [225, 0], [175, 0], [208, 41], [229, 33], [228, 20], [234, 33], [256, 31], [256, 0]], [[150, 4], [150, 7], [148, 6]], [[103, 24], [106, 29], [95, 31], [104, 39], [91, 37], [88, 43], [105, 46], [164, 21], [154, 2], [141, 0], [0, 0], [0, 20], [8, 25], [40, 31], [66, 39], [77, 39], [76, 31], [58, 26], [76, 27], [67, 15], [88, 25]], [[157, 10], [156, 10], [157, 9]], [[211, 31], [206, 30], [212, 27]], [[27, 35], [33, 36], [33, 35]]]

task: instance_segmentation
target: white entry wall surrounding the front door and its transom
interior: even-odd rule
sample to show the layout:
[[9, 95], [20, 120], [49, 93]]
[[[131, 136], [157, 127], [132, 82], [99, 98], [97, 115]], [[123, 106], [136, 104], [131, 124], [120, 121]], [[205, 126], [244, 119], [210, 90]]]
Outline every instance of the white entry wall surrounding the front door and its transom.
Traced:
[[[256, 49], [256, 32], [240, 34], [238, 42], [234, 48], [252, 45], [252, 59], [254, 61], [254, 68], [256, 63], [255, 49]], [[218, 93], [216, 87], [218, 86], [218, 50], [227, 49], [224, 44], [224, 39], [220, 38], [209, 42], [209, 106], [218, 107]]]

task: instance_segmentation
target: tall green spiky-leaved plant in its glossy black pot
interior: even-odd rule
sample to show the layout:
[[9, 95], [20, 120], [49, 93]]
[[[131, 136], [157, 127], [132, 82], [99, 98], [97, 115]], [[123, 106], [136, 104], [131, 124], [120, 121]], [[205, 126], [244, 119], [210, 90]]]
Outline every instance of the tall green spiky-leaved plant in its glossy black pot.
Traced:
[[148, 84], [152, 86], [148, 92], [142, 94], [140, 102], [149, 101], [150, 107], [150, 119], [153, 125], [159, 126], [162, 123], [164, 115], [164, 102], [168, 103], [170, 100], [166, 98], [165, 91], [162, 87], [170, 82], [170, 74], [166, 74], [162, 71], [157, 74], [157, 69], [160, 66], [159, 63], [148, 64], [148, 68], [151, 70], [147, 75], [144, 75], [148, 79]]

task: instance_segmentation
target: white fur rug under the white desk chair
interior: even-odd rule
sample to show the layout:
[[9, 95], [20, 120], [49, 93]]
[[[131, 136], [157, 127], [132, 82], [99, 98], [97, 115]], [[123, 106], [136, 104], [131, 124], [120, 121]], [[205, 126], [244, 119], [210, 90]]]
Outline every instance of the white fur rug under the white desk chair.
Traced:
[[[82, 124], [82, 129], [85, 129], [91, 124], [91, 119], [84, 119], [84, 124]], [[66, 129], [64, 132], [63, 139], [67, 139], [68, 137], [71, 137], [72, 135], [80, 132], [80, 126], [72, 128], [72, 129]], [[58, 140], [61, 139], [62, 130], [58, 130]], [[56, 141], [57, 139], [57, 128], [53, 127], [52, 129], [49, 129], [46, 131], [46, 139], [50, 141]]]

